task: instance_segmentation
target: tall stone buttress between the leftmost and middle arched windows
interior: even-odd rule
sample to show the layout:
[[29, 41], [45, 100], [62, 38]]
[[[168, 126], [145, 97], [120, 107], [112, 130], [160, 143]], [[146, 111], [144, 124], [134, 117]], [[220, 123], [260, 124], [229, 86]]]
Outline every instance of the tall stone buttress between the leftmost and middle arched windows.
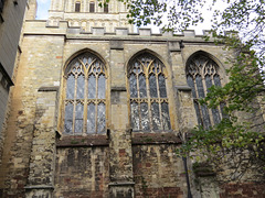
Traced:
[[132, 198], [131, 130], [128, 128], [123, 42], [110, 42], [110, 73], [109, 197]]

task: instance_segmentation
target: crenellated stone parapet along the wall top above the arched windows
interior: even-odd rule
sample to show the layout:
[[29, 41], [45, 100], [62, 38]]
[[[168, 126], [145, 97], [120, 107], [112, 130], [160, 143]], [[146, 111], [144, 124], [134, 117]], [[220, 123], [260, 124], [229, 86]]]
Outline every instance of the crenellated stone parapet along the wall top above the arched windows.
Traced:
[[[195, 34], [194, 30], [184, 30], [182, 33], [176, 34], [174, 32], [152, 33], [151, 29], [139, 28], [136, 32], [131, 32], [128, 28], [116, 28], [113, 32], [106, 31], [103, 26], [91, 26], [89, 30], [85, 30], [78, 25], [70, 25], [67, 21], [57, 21], [51, 23], [50, 21], [36, 21], [28, 20], [25, 22], [24, 35], [64, 35], [66, 38], [98, 38], [112, 40], [118, 37], [118, 40], [157, 40], [157, 41], [184, 41], [184, 42], [206, 42], [212, 43], [214, 40], [211, 36], [211, 31], [205, 30], [203, 34]], [[204, 36], [210, 36], [209, 41], [204, 40]], [[178, 45], [178, 47], [177, 47]], [[170, 44], [172, 51], [179, 50], [179, 44]], [[176, 48], [177, 47], [177, 48]]]

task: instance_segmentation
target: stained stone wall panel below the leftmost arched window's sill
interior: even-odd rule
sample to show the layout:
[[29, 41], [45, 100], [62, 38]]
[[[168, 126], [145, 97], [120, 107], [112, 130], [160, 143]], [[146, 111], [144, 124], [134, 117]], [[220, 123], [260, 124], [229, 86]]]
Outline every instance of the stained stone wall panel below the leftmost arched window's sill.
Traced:
[[109, 148], [57, 147], [54, 197], [108, 197]]

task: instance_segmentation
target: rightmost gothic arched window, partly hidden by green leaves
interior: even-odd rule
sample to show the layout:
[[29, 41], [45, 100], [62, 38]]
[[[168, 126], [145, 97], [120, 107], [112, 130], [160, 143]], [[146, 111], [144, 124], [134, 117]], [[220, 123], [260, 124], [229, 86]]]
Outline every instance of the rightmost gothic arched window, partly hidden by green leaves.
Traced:
[[198, 54], [187, 65], [187, 82], [192, 88], [198, 123], [204, 129], [219, 123], [222, 119], [222, 107], [209, 110], [199, 105], [199, 98], [204, 98], [212, 85], [221, 86], [219, 66], [210, 57]]

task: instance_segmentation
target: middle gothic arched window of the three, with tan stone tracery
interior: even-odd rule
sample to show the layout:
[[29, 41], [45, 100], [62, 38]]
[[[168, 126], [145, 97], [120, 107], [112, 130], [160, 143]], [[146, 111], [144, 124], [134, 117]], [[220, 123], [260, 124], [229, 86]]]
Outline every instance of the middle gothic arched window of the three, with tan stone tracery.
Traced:
[[130, 118], [134, 131], [170, 130], [165, 65], [149, 53], [129, 63]]

